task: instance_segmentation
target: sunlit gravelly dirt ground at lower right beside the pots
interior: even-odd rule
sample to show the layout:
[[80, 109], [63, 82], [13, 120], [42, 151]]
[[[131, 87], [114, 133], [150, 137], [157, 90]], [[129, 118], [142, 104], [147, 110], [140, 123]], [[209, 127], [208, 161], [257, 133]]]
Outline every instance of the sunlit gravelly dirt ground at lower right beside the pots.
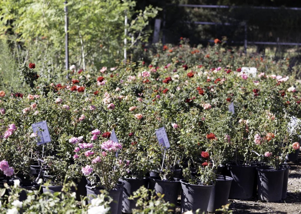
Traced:
[[[229, 200], [229, 203], [231, 203], [230, 209], [233, 211], [233, 213], [301, 213], [301, 153], [299, 154], [298, 162], [289, 162], [288, 165], [290, 166], [290, 174], [287, 185], [287, 198], [285, 200], [278, 203], [261, 202], [258, 201], [257, 198], [253, 198], [250, 201]], [[176, 208], [176, 213], [180, 213], [179, 207]]]

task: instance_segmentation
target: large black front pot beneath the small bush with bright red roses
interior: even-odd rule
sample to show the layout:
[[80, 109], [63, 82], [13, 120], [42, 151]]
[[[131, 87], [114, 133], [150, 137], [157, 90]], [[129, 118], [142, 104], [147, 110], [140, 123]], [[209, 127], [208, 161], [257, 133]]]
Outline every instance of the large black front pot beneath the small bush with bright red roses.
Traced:
[[181, 194], [181, 213], [191, 210], [196, 213], [197, 209], [200, 209], [199, 213], [206, 213], [213, 185], [203, 186], [201, 181], [197, 181], [199, 185], [193, 185], [186, 183], [185, 179], [180, 180], [180, 182], [183, 190]]

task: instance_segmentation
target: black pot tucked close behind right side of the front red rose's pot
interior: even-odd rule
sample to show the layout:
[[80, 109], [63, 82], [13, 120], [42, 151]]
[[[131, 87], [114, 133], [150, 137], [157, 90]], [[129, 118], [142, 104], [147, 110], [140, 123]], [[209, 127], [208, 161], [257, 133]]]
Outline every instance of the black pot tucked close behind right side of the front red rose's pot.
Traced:
[[216, 183], [212, 188], [207, 208], [209, 213], [216, 213], [216, 209], [228, 204], [232, 180], [233, 178], [225, 175], [216, 176]]

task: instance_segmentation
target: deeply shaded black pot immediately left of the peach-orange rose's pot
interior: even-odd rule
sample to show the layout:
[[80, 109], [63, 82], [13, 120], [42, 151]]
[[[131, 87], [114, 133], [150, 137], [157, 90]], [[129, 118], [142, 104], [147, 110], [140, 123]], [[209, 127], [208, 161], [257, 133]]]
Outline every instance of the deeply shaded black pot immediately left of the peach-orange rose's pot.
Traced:
[[227, 163], [227, 175], [233, 178], [229, 198], [246, 200], [252, 198], [256, 165]]

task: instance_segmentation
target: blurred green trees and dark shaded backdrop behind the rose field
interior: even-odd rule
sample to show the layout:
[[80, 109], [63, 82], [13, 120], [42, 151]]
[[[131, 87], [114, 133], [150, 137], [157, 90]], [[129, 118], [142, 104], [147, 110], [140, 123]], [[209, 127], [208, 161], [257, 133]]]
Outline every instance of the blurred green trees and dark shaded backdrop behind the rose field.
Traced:
[[[241, 8], [178, 7], [176, 4], [233, 5]], [[150, 6], [152, 5], [152, 6]], [[254, 9], [252, 6], [282, 7], [278, 10]], [[94, 65], [113, 67], [123, 60], [125, 15], [128, 17], [127, 49], [138, 60], [147, 41], [152, 40], [154, 17], [161, 24], [160, 38], [178, 44], [180, 37], [191, 46], [207, 45], [215, 38], [243, 41], [247, 23], [248, 41], [301, 42], [299, 23], [301, 7], [295, 0], [70, 0], [69, 64], [77, 68]], [[162, 8], [163, 10], [160, 10]], [[230, 22], [233, 25], [197, 25], [187, 22]], [[163, 23], [163, 22], [162, 22]], [[134, 41], [132, 43], [132, 41]], [[136, 42], [137, 41], [137, 42]], [[232, 44], [240, 48], [243, 44]], [[298, 46], [248, 46], [248, 52], [273, 54], [283, 58], [289, 53], [299, 57]], [[267, 48], [270, 52], [267, 52]], [[18, 84], [20, 64], [51, 65], [52, 73], [64, 70], [65, 33], [63, 0], [0, 1], [0, 84]], [[294, 63], [296, 60], [294, 60]]]

